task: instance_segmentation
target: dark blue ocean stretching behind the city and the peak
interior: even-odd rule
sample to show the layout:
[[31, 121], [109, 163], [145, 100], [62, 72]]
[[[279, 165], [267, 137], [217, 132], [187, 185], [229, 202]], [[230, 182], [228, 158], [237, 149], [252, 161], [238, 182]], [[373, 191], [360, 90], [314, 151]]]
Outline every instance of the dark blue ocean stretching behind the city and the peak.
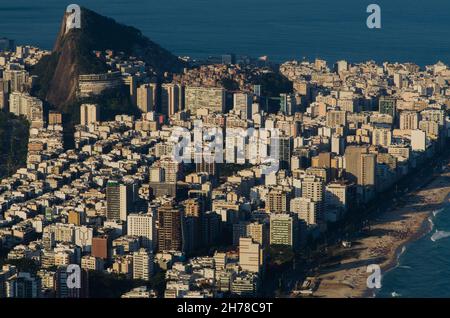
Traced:
[[[1, 1], [0, 37], [51, 49], [73, 2], [141, 29], [180, 56], [450, 63], [448, 0]], [[381, 7], [381, 29], [366, 26], [371, 3]]]

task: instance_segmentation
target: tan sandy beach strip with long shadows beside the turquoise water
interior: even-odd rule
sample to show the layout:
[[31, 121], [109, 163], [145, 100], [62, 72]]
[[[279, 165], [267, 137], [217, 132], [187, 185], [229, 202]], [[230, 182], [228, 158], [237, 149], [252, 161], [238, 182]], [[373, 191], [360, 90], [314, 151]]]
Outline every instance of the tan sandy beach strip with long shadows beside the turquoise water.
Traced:
[[[322, 264], [315, 297], [371, 297], [367, 289], [367, 266], [378, 264], [382, 274], [395, 266], [406, 244], [430, 228], [428, 218], [448, 200], [450, 172], [442, 173], [426, 187], [409, 193], [401, 204], [372, 221], [364, 235], [353, 240], [351, 248], [333, 250], [333, 262]], [[338, 261], [336, 261], [338, 260]]]

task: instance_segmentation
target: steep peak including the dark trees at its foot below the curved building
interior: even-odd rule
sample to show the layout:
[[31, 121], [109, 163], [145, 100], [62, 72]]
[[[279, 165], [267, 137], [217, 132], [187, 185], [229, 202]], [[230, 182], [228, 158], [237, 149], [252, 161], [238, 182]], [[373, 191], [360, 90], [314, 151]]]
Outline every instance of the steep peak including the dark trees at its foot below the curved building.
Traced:
[[139, 114], [125, 88], [107, 91], [98, 97], [77, 98], [80, 75], [108, 71], [106, 63], [94, 51], [113, 50], [137, 57], [157, 74], [179, 72], [185, 63], [146, 38], [138, 29], [86, 8], [82, 8], [81, 12], [81, 29], [66, 32], [66, 18], [67, 15], [64, 16], [52, 54], [43, 57], [30, 72], [37, 76], [32, 95], [45, 101], [45, 113], [50, 109], [63, 113], [64, 143], [71, 148], [73, 128], [79, 123], [82, 103], [99, 104], [101, 120], [113, 119], [118, 114]]

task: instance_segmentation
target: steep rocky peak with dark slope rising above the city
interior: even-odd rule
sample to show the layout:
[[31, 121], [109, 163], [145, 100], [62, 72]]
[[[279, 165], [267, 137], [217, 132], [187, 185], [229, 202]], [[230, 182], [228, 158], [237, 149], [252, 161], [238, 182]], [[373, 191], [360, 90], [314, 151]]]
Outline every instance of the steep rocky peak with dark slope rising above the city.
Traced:
[[68, 17], [69, 14], [64, 15], [52, 55], [43, 58], [33, 71], [39, 76], [36, 94], [63, 112], [76, 97], [80, 74], [107, 70], [94, 56], [95, 50], [111, 49], [136, 56], [159, 73], [179, 72], [185, 66], [133, 27], [82, 8], [81, 29], [66, 31]]

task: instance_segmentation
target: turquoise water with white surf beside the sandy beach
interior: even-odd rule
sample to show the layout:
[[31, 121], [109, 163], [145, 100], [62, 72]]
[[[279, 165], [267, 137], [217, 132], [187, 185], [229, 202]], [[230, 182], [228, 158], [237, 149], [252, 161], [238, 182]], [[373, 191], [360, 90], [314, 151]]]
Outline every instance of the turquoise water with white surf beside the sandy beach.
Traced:
[[431, 232], [406, 246], [377, 297], [450, 297], [450, 205], [429, 222]]

